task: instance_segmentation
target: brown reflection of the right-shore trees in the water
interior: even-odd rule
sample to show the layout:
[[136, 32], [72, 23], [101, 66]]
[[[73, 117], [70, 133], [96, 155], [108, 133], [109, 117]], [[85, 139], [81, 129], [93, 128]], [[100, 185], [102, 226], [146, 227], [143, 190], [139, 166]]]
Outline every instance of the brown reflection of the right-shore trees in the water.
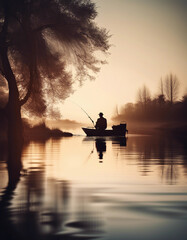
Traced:
[[144, 175], [149, 175], [153, 166], [160, 168], [162, 179], [167, 183], [176, 182], [178, 175], [178, 166], [186, 166], [185, 157], [181, 142], [173, 138], [158, 136], [130, 137], [128, 139], [127, 152], [136, 152], [138, 154], [137, 165], [139, 171]]

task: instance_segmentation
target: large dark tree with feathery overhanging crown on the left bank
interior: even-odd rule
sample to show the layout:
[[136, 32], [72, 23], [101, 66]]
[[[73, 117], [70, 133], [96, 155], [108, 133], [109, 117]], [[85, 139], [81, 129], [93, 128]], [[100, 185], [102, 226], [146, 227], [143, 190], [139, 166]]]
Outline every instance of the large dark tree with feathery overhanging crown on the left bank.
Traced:
[[96, 15], [89, 0], [0, 0], [0, 92], [10, 145], [22, 143], [22, 106], [42, 115], [74, 81], [99, 70], [97, 52], [107, 52], [109, 36]]

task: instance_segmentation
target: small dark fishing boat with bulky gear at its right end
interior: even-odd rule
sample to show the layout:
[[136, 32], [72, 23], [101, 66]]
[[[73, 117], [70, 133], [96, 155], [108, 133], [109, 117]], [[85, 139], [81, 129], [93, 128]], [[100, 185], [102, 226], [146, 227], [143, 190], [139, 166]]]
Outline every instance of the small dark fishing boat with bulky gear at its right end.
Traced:
[[87, 136], [126, 136], [126, 123], [112, 126], [112, 129], [98, 130], [95, 128], [82, 128]]

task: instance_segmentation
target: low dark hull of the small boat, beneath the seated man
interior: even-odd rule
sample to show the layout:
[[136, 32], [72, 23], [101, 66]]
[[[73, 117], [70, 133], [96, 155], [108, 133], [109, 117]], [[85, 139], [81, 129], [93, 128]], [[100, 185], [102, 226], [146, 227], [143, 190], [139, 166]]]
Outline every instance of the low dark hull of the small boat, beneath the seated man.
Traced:
[[106, 129], [106, 130], [97, 130], [94, 128], [82, 128], [82, 130], [86, 133], [87, 136], [125, 136], [126, 130], [113, 130], [113, 129]]

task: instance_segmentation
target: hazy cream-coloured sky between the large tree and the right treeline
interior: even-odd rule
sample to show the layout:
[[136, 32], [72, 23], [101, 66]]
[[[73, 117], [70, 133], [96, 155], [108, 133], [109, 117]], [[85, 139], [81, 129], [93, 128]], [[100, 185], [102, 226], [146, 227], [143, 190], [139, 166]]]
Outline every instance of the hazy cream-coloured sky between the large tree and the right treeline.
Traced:
[[112, 35], [108, 64], [96, 80], [61, 105], [63, 118], [90, 124], [79, 104], [95, 120], [102, 111], [108, 120], [146, 84], [152, 95], [169, 73], [187, 92], [187, 0], [95, 0], [97, 23]]

